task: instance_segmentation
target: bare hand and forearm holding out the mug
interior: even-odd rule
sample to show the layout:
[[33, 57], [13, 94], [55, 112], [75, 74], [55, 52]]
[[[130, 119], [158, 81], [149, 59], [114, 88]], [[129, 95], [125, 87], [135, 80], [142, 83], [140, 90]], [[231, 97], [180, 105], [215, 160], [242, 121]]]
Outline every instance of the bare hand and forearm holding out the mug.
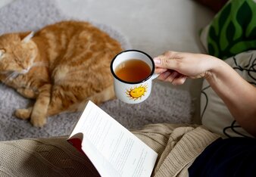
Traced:
[[236, 121], [256, 136], [256, 88], [232, 67], [208, 54], [167, 51], [154, 58], [158, 79], [183, 84], [186, 78], [208, 80]]

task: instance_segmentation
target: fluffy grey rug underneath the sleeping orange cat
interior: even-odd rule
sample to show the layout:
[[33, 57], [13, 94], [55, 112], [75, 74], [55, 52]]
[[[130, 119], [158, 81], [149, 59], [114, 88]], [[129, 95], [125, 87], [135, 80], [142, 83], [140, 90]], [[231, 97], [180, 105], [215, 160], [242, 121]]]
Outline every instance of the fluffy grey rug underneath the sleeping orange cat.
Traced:
[[[2, 33], [37, 30], [49, 23], [70, 20], [51, 0], [17, 0], [0, 9], [0, 35]], [[76, 20], [87, 20], [80, 17]], [[91, 23], [105, 30], [121, 42], [123, 48], [131, 48], [126, 37], [114, 27], [101, 23]], [[13, 116], [17, 108], [27, 107], [30, 100], [18, 95], [13, 89], [0, 85], [0, 141], [69, 135], [79, 119], [80, 113], [63, 113], [48, 118], [43, 128], [31, 126], [27, 120]], [[123, 126], [136, 129], [148, 123], [190, 123], [192, 100], [189, 92], [170, 89], [154, 83], [151, 96], [141, 104], [125, 104], [119, 100], [108, 101], [100, 106]]]

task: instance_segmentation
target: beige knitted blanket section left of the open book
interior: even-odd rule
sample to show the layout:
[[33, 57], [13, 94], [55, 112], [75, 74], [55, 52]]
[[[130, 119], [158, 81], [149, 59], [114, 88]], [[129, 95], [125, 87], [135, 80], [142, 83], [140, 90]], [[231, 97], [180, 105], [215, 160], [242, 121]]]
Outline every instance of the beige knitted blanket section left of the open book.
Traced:
[[92, 163], [66, 139], [2, 141], [0, 176], [97, 176]]

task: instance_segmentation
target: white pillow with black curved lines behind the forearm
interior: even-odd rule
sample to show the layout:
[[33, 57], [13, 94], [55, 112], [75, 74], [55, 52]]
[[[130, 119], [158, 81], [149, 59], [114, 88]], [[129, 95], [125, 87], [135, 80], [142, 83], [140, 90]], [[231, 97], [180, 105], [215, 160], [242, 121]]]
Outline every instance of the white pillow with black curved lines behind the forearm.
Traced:
[[[245, 51], [234, 57], [229, 57], [226, 59], [226, 63], [245, 80], [256, 86], [256, 51]], [[236, 123], [226, 105], [205, 79], [201, 91], [201, 122], [212, 132], [224, 138], [252, 137]]]

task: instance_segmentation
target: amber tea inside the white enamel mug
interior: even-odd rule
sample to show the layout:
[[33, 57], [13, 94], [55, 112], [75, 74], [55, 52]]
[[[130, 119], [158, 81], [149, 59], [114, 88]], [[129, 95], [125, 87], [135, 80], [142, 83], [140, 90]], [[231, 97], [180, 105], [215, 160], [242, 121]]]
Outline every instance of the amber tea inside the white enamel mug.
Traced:
[[114, 73], [126, 82], [139, 82], [150, 76], [151, 69], [145, 61], [131, 59], [119, 64]]

